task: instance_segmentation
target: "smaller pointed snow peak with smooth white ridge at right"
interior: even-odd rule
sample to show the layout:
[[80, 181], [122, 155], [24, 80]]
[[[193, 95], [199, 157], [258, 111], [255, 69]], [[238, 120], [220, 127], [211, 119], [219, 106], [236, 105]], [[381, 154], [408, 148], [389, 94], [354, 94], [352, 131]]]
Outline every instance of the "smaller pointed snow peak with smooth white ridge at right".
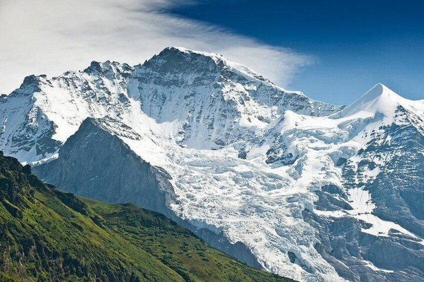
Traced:
[[[405, 99], [378, 83], [352, 104], [329, 116], [313, 117], [286, 111], [250, 142], [253, 147], [260, 144], [262, 149], [266, 148], [268, 163], [293, 163], [301, 155], [298, 148], [299, 143], [304, 143], [299, 142], [301, 138], [306, 143], [302, 146], [314, 144], [317, 139], [324, 143], [349, 144], [351, 156], [366, 148], [371, 137], [383, 136], [384, 128], [392, 125], [410, 125], [424, 134], [423, 115], [422, 100]], [[244, 147], [246, 157], [255, 157], [256, 151], [249, 148], [248, 143]]]

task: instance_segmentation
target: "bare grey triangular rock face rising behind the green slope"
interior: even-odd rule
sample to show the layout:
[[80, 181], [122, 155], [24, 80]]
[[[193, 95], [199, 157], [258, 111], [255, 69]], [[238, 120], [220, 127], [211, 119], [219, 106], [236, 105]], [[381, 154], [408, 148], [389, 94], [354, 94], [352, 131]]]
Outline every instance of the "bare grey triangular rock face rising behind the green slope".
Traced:
[[33, 167], [43, 181], [109, 203], [132, 202], [169, 216], [170, 176], [143, 161], [91, 118], [60, 148], [60, 157]]

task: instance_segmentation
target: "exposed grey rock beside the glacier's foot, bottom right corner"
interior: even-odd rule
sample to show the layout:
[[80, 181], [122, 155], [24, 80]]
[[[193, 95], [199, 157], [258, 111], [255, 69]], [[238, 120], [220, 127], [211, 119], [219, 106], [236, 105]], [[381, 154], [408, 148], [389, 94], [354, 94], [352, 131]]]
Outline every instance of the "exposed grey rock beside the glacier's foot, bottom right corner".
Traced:
[[[308, 211], [303, 216], [319, 230], [315, 249], [341, 277], [349, 281], [422, 281], [422, 245], [363, 233], [366, 224], [348, 217], [324, 219]], [[374, 271], [364, 261], [381, 271]]]

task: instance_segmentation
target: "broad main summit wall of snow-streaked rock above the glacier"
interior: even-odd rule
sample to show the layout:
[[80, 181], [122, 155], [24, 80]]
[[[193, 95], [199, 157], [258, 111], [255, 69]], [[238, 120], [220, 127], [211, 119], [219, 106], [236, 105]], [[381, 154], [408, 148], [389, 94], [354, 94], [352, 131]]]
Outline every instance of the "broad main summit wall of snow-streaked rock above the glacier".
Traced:
[[279, 88], [221, 55], [170, 47], [134, 67], [92, 62], [58, 77], [26, 77], [1, 97], [0, 144], [21, 162], [45, 159], [85, 118], [108, 116], [143, 130], [140, 118], [150, 118], [161, 135], [182, 146], [216, 149], [285, 110], [326, 115], [337, 109]]

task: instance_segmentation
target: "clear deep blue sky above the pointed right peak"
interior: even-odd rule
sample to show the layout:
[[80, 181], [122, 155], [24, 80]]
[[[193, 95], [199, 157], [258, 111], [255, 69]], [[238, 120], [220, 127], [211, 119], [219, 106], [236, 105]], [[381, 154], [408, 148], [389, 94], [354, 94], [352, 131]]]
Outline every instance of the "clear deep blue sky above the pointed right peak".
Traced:
[[314, 99], [350, 103], [376, 82], [424, 98], [424, 1], [205, 0], [168, 12], [312, 55], [288, 87]]

